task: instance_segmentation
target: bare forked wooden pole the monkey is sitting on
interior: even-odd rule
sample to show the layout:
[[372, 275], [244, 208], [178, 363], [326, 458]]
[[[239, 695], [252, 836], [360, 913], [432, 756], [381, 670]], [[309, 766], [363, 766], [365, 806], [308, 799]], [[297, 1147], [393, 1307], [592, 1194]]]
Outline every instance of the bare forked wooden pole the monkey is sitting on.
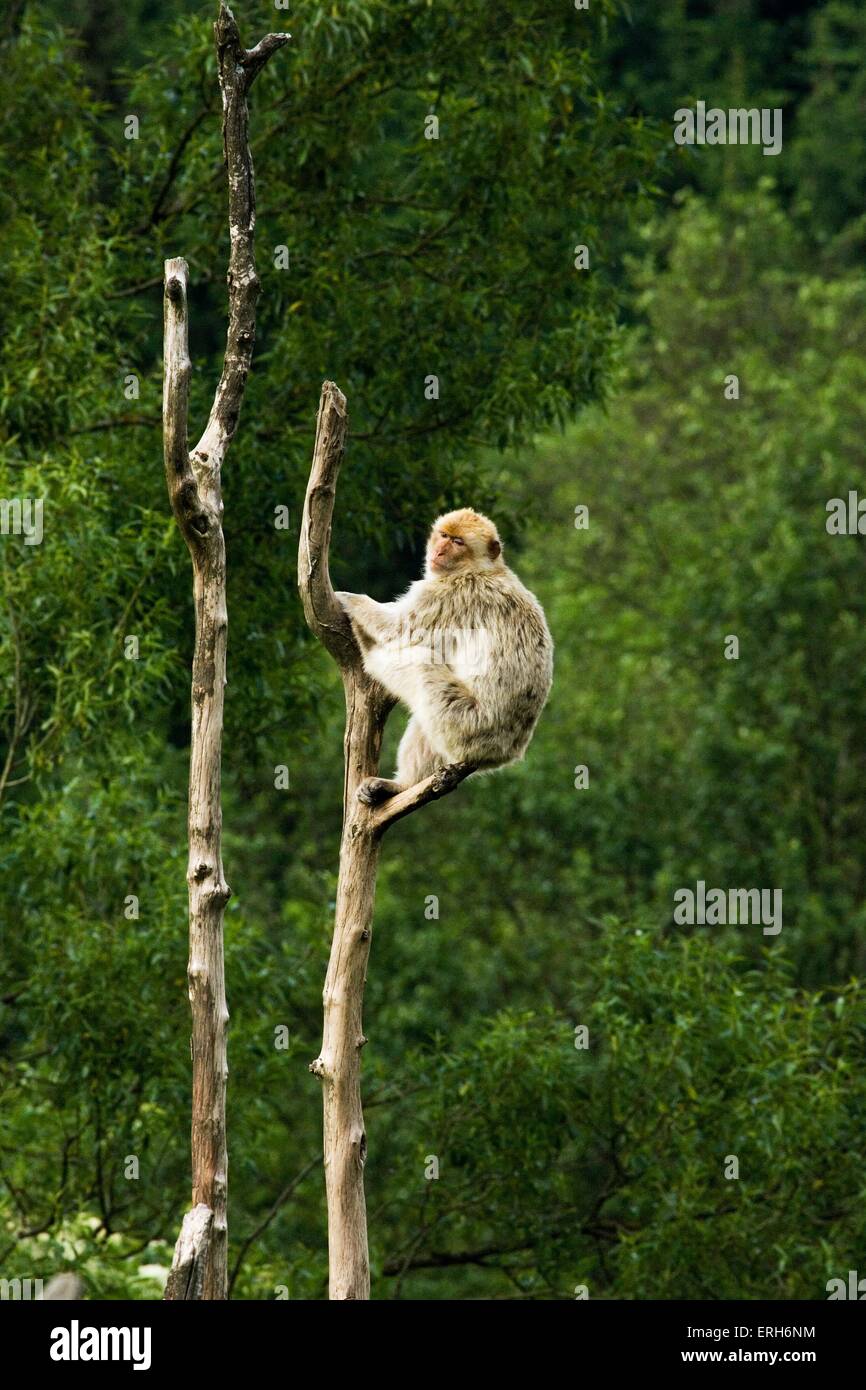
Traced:
[[360, 784], [378, 773], [382, 733], [395, 701], [364, 671], [328, 571], [331, 517], [346, 432], [346, 398], [332, 381], [325, 381], [300, 531], [297, 587], [307, 623], [338, 663], [346, 695], [336, 915], [322, 995], [321, 1052], [310, 1063], [322, 1081], [329, 1297], [335, 1300], [370, 1297], [360, 1054], [367, 1041], [361, 1015], [382, 834], [395, 820], [453, 791], [473, 771], [470, 764], [443, 767], [375, 808], [357, 799]]

